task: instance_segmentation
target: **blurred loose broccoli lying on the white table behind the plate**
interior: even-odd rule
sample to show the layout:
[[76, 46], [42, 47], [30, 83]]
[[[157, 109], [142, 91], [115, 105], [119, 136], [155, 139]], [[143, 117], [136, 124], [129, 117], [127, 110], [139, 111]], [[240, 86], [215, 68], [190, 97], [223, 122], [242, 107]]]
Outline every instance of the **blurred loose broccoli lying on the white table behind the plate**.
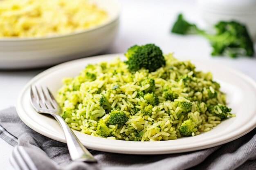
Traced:
[[227, 55], [237, 57], [238, 55], [254, 55], [254, 44], [249, 36], [245, 25], [236, 21], [220, 21], [215, 25], [216, 34], [209, 34], [198, 29], [195, 24], [184, 20], [182, 14], [173, 25], [172, 32], [178, 34], [200, 34], [207, 38], [213, 51], [211, 55]]

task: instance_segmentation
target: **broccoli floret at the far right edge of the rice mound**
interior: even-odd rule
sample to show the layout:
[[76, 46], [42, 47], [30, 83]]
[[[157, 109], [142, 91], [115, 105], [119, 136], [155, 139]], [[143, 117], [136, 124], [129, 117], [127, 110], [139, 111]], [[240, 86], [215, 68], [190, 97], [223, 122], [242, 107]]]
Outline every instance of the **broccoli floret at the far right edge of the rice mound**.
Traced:
[[222, 104], [210, 105], [208, 107], [208, 112], [214, 116], [220, 117], [220, 119], [225, 119], [230, 114], [231, 108]]

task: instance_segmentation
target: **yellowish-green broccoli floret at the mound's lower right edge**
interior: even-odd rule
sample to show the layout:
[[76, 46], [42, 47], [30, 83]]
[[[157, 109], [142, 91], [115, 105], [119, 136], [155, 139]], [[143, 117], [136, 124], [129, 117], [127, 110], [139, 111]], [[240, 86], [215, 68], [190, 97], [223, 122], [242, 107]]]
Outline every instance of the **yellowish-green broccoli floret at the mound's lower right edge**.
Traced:
[[180, 134], [182, 136], [192, 136], [191, 134], [197, 131], [197, 125], [192, 119], [185, 120], [180, 126]]

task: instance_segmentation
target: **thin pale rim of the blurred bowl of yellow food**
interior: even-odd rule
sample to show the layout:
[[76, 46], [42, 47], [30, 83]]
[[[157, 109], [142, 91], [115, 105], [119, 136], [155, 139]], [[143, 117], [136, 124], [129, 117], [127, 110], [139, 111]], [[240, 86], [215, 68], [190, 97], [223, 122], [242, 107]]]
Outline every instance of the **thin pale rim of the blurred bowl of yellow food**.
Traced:
[[121, 11], [121, 4], [118, 0], [112, 0], [112, 1], [116, 5], [117, 14], [115, 16], [113, 16], [112, 18], [110, 18], [107, 22], [104, 22], [103, 24], [99, 24], [98, 26], [94, 26], [92, 28], [85, 29], [85, 30], [74, 31], [71, 33], [55, 34], [55, 35], [42, 36], [42, 37], [0, 38], [0, 42], [39, 41], [39, 40], [49, 40], [49, 39], [56, 39], [56, 38], [65, 38], [65, 37], [70, 37], [70, 36], [74, 36], [74, 35], [80, 35], [83, 33], [90, 33], [92, 31], [101, 29], [119, 19], [120, 11]]

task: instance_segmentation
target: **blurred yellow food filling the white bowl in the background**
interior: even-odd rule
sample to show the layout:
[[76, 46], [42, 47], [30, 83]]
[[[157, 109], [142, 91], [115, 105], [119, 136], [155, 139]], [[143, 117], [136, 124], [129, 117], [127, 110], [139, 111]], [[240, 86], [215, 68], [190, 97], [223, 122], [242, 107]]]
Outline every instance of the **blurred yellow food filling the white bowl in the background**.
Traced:
[[107, 20], [88, 0], [0, 0], [0, 38], [72, 33]]

